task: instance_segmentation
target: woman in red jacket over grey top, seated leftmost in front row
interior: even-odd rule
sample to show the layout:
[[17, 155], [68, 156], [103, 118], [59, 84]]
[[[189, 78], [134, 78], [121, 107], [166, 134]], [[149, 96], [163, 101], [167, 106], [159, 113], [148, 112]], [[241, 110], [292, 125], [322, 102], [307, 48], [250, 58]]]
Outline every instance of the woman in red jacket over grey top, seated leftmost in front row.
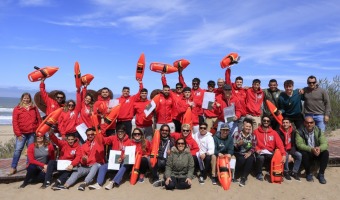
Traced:
[[54, 148], [45, 135], [35, 136], [34, 143], [27, 148], [28, 167], [24, 182], [19, 188], [24, 188], [31, 180], [43, 182], [47, 171], [47, 163], [54, 160]]

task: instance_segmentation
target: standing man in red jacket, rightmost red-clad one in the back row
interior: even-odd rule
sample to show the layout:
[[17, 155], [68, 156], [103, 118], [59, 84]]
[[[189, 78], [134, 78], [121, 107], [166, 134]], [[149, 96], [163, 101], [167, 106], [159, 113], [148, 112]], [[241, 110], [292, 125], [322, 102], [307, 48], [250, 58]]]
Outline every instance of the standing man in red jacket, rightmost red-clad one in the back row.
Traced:
[[252, 87], [247, 90], [246, 117], [253, 120], [253, 130], [255, 130], [258, 127], [258, 124], [261, 122], [264, 93], [260, 86], [261, 81], [259, 79], [254, 79]]

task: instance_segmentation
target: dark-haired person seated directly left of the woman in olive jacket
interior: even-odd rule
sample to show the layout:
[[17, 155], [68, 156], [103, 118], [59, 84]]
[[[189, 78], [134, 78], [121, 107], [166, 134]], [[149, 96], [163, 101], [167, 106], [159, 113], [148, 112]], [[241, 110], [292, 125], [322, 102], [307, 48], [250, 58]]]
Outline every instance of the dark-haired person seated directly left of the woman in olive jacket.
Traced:
[[170, 154], [171, 147], [174, 146], [174, 141], [170, 138], [170, 127], [167, 124], [163, 124], [159, 131], [161, 134], [161, 140], [157, 154], [157, 163], [151, 170], [152, 183], [154, 187], [160, 186], [160, 183], [162, 182], [159, 179], [158, 170], [165, 170], [167, 157]]

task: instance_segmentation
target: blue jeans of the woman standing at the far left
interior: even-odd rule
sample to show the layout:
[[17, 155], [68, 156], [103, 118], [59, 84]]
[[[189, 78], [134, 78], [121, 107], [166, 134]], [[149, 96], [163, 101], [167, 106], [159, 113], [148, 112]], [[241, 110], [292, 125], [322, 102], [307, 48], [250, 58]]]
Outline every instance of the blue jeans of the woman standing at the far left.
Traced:
[[13, 169], [17, 168], [17, 165], [18, 165], [18, 162], [19, 162], [19, 159], [20, 159], [20, 156], [21, 156], [21, 152], [24, 149], [25, 144], [28, 147], [28, 145], [30, 145], [34, 142], [34, 135], [35, 135], [35, 133], [22, 134], [21, 141], [18, 139], [18, 137], [16, 137], [16, 139], [15, 139], [15, 150], [14, 150], [13, 160], [12, 160], [12, 164], [11, 164], [11, 167]]

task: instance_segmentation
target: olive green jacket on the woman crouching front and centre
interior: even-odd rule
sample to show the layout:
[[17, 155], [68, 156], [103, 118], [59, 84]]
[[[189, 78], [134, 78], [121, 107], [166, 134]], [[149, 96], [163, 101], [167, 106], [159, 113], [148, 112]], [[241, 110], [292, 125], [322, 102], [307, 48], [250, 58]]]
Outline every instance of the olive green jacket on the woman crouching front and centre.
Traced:
[[165, 178], [174, 176], [176, 178], [194, 178], [195, 163], [189, 148], [185, 148], [183, 152], [179, 152], [174, 146], [166, 161]]

